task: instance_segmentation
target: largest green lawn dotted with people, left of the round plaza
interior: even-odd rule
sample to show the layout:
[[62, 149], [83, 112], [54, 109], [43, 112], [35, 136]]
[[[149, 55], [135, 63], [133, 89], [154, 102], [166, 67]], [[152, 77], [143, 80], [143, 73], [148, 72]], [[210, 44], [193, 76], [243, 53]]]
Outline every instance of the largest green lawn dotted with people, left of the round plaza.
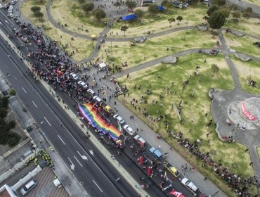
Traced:
[[[204, 63], [204, 59], [207, 62]], [[211, 65], [215, 63], [219, 66], [219, 72], [212, 77]], [[199, 80], [199, 76], [193, 76], [195, 67], [200, 65], [200, 82], [198, 82], [195, 89], [194, 96], [191, 96], [195, 84]], [[160, 74], [160, 80], [157, 76]], [[182, 90], [182, 84], [184, 80], [190, 77], [187, 87]], [[164, 121], [169, 122], [169, 129], [174, 133], [183, 132], [183, 136], [195, 141], [196, 139], [202, 139], [200, 149], [204, 153], [209, 152], [209, 155], [214, 158], [215, 161], [222, 160], [223, 165], [228, 166], [231, 172], [242, 174], [242, 176], [252, 176], [253, 170], [249, 166], [247, 160], [249, 160], [249, 153], [245, 153], [245, 146], [237, 143], [227, 143], [220, 141], [215, 130], [215, 126], [206, 126], [207, 122], [212, 119], [210, 115], [211, 99], [208, 96], [208, 91], [212, 87], [220, 89], [233, 89], [232, 77], [226, 61], [217, 56], [209, 57], [202, 54], [191, 54], [188, 56], [182, 56], [178, 58], [176, 65], [160, 64], [143, 70], [138, 70], [133, 74], [130, 74], [128, 80], [126, 76], [119, 77], [117, 79], [120, 85], [126, 85], [129, 88], [130, 96], [119, 96], [119, 100], [122, 101], [133, 113], [138, 115], [147, 125], [149, 125], [155, 132], [162, 134], [164, 140], [168, 144], [176, 148], [177, 151], [188, 159], [190, 163], [196, 165], [196, 169], [200, 170], [206, 177], [212, 179], [212, 181], [222, 188], [228, 196], [234, 196], [234, 193], [228, 189], [226, 183], [223, 180], [216, 177], [213, 173], [212, 167], [202, 167], [202, 163], [196, 160], [195, 157], [191, 157], [188, 151], [181, 146], [178, 146], [176, 140], [165, 132], [164, 122], [152, 122], [150, 123], [148, 117], [144, 117], [138, 107], [146, 108], [146, 112], [151, 114], [152, 117], [157, 115], [167, 115]], [[171, 83], [174, 82], [174, 86]], [[134, 85], [137, 87], [141, 85], [141, 90], [134, 90]], [[148, 89], [149, 84], [152, 87], [152, 94], [148, 95], [145, 91]], [[163, 90], [162, 87], [165, 87]], [[171, 89], [171, 94], [165, 95], [166, 89]], [[160, 100], [160, 94], [164, 96]], [[141, 95], [144, 96], [144, 100], [148, 101], [148, 105], [140, 104]], [[130, 106], [131, 98], [138, 99], [138, 106], [135, 110]], [[158, 104], [153, 106], [152, 100], [158, 101]], [[182, 101], [181, 118], [183, 121], [180, 123], [175, 111], [171, 108], [172, 102], [177, 106]], [[162, 107], [160, 107], [162, 103]], [[159, 110], [159, 113], [156, 112]], [[207, 117], [204, 116], [208, 113]], [[192, 129], [191, 132], [189, 130]], [[207, 133], [213, 131], [212, 134]], [[210, 140], [210, 144], [207, 142]], [[253, 189], [255, 190], [255, 189]]]

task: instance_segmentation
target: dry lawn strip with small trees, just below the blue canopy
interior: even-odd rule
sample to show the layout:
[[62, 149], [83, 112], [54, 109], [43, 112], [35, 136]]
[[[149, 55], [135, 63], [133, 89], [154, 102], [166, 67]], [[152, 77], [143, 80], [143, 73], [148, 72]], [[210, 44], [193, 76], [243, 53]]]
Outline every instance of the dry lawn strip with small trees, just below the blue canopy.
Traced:
[[[143, 10], [143, 8], [141, 8], [141, 10]], [[119, 23], [115, 22], [110, 32], [108, 32], [108, 37], [124, 37], [124, 32], [120, 30], [123, 25], [129, 27], [129, 29], [126, 30], [126, 37], [138, 37], [147, 35], [148, 31], [150, 31], [151, 34], [155, 34], [157, 32], [171, 30], [177, 27], [201, 24], [204, 23], [202, 18], [206, 12], [206, 6], [189, 6], [185, 9], [171, 8], [168, 11], [158, 13], [156, 16], [145, 12], [144, 18], [141, 20], [134, 20], [130, 22], [120, 20]], [[170, 27], [168, 19], [176, 19], [178, 15], [183, 17], [180, 25], [178, 25], [178, 20], [176, 20], [176, 22], [172, 23]], [[111, 32], [113, 32], [113, 34], [110, 34]]]

